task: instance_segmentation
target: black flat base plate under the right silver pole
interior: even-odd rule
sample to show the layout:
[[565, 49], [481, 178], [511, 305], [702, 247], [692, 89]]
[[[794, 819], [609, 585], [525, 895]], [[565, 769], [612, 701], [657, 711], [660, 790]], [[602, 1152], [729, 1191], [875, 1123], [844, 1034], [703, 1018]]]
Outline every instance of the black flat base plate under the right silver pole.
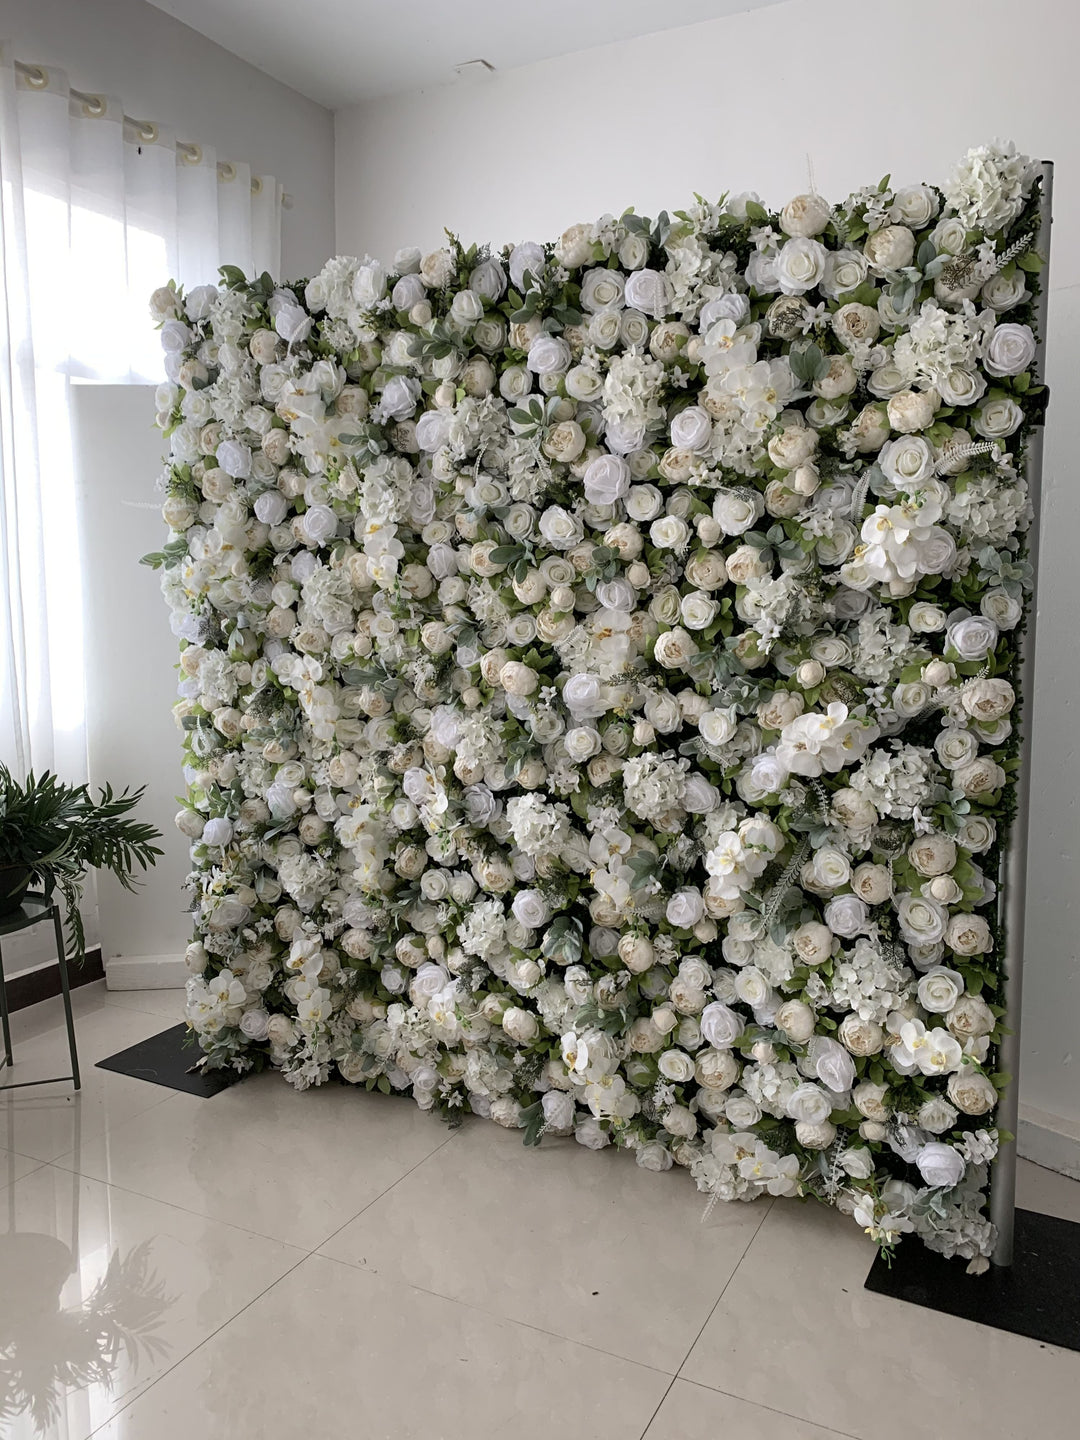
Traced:
[[966, 1274], [966, 1261], [946, 1260], [910, 1237], [891, 1267], [874, 1261], [865, 1289], [1080, 1351], [1080, 1225], [1018, 1210], [1014, 1263], [992, 1264], [985, 1274]]

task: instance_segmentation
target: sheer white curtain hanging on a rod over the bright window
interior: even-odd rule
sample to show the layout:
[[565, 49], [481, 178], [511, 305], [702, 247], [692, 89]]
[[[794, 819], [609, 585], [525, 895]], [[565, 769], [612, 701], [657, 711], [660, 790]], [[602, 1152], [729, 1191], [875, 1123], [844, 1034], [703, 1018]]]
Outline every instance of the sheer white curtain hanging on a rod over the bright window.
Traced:
[[[150, 292], [222, 264], [276, 276], [281, 207], [272, 176], [0, 43], [0, 760], [16, 772], [86, 766], [71, 386], [163, 379]], [[107, 585], [138, 557], [101, 559]]]

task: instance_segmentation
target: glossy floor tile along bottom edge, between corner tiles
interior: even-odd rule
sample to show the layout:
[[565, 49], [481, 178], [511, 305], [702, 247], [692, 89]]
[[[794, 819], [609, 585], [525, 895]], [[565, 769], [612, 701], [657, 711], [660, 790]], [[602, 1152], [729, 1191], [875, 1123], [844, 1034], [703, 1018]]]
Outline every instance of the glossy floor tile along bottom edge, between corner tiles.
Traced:
[[95, 1440], [638, 1440], [667, 1385], [312, 1256]]

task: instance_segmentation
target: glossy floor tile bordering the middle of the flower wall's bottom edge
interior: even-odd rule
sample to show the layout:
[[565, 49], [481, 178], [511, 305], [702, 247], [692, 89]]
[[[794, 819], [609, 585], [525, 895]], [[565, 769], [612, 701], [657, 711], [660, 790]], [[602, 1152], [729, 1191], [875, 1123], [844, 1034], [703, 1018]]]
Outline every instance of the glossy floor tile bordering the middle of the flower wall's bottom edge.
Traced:
[[766, 1205], [572, 1139], [462, 1126], [323, 1254], [675, 1374]]

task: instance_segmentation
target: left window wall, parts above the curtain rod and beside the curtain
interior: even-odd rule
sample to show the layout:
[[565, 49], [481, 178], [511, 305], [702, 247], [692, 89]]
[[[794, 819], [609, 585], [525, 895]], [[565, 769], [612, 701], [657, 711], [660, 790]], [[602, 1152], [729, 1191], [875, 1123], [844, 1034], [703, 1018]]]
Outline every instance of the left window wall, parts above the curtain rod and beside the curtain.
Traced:
[[[180, 138], [213, 145], [220, 158], [248, 161], [274, 174], [292, 196], [284, 212], [282, 275], [312, 274], [333, 252], [334, 128], [330, 111], [230, 55], [144, 0], [6, 0], [0, 33], [19, 59], [65, 69], [79, 89], [122, 99], [128, 115], [173, 127]], [[167, 855], [135, 897], [111, 877], [98, 877], [99, 935], [111, 982], [127, 968], [127, 981], [179, 984], [176, 963], [132, 966], [135, 956], [174, 956], [187, 942], [180, 881], [187, 873], [183, 842], [171, 824], [173, 796], [181, 789], [180, 747], [170, 706], [174, 700], [176, 641], [157, 593], [157, 577], [138, 557], [160, 549], [163, 521], [154, 510], [131, 510], [125, 500], [151, 501], [161, 468], [161, 436], [153, 429], [153, 399], [145, 389], [127, 393], [94, 387], [76, 395], [76, 426], [94, 436], [82, 446], [94, 481], [88, 524], [98, 528], [94, 575], [108, 588], [94, 592], [95, 619], [128, 618], [125, 634], [138, 635], [140, 668], [124, 688], [120, 668], [101, 648], [105, 631], [92, 625], [98, 651], [88, 675], [91, 772], [124, 785], [150, 782], [144, 811], [166, 832]], [[76, 448], [81, 436], [76, 431]], [[104, 488], [102, 488], [104, 487]], [[112, 521], [112, 523], [109, 523]], [[99, 613], [98, 613], [99, 608]], [[130, 701], [127, 711], [121, 698]], [[132, 708], [134, 707], [134, 708]], [[131, 717], [125, 727], [122, 713]], [[91, 881], [91, 886], [94, 881]], [[88, 891], [88, 899], [94, 894]], [[9, 972], [50, 959], [42, 927], [9, 942]], [[88, 942], [96, 943], [91, 920]]]

